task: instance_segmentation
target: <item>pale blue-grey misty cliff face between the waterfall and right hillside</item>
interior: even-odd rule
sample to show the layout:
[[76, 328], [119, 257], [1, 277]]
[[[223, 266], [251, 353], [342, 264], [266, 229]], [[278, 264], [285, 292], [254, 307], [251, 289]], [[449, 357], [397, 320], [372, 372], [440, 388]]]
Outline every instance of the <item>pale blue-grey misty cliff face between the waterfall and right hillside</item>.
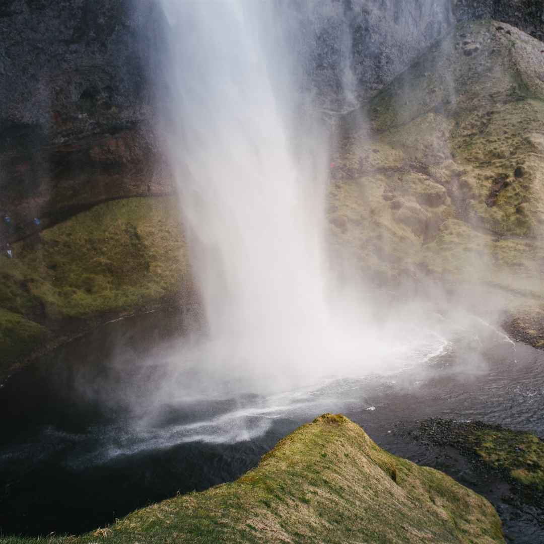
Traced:
[[[450, 0], [310, 3], [300, 22], [324, 109], [353, 109], [453, 24]], [[302, 5], [305, 5], [302, 2]]]

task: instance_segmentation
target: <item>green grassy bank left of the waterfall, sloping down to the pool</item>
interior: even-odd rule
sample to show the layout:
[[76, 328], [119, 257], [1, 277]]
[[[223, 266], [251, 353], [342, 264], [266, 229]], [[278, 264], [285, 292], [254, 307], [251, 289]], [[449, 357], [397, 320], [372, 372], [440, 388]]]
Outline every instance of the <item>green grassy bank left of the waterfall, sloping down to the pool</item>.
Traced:
[[48, 330], [190, 289], [174, 198], [104, 203], [14, 244], [13, 254], [0, 256], [0, 378]]

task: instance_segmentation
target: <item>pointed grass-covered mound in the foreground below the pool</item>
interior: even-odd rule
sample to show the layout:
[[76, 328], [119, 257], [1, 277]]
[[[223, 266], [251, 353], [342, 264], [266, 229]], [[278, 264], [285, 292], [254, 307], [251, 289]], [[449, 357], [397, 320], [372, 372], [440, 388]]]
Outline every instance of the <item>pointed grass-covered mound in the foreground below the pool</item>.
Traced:
[[486, 499], [388, 454], [360, 426], [330, 414], [302, 425], [231, 484], [164, 500], [81, 537], [40, 541], [504, 542]]

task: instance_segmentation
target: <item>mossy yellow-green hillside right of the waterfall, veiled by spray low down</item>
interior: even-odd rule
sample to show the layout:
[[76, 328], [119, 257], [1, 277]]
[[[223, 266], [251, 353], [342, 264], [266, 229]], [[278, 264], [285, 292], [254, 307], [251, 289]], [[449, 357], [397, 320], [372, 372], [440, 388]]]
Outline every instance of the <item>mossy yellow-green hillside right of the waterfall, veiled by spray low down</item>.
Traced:
[[355, 267], [541, 304], [542, 51], [504, 23], [459, 24], [343, 119], [329, 215]]

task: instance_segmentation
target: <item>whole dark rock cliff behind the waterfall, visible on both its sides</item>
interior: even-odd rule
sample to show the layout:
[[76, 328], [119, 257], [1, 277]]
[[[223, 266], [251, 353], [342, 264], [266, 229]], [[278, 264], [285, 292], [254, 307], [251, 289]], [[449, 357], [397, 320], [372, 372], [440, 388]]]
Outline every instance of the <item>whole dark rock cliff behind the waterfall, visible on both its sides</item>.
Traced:
[[[456, 18], [542, 34], [537, 0], [330, 0], [300, 13], [325, 109], [354, 107]], [[152, 130], [164, 17], [157, 0], [8, 0], [0, 7], [0, 212], [18, 230], [119, 197], [165, 194]]]

